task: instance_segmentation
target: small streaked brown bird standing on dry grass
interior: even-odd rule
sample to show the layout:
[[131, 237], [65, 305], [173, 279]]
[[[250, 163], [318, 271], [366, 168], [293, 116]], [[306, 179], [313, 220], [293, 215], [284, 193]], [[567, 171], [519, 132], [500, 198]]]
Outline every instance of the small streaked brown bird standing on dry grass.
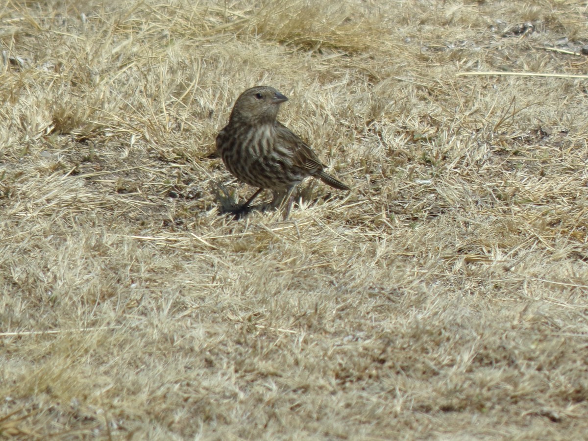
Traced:
[[[276, 120], [280, 104], [285, 101], [286, 96], [269, 86], [247, 89], [237, 98], [229, 123], [216, 136], [216, 152], [226, 168], [240, 181], [259, 188], [234, 211], [236, 218], [249, 211], [250, 203], [263, 189], [273, 191], [273, 207], [282, 205], [308, 176], [338, 190], [350, 190], [325, 173], [325, 165], [316, 153]], [[286, 216], [291, 205], [290, 199]]]

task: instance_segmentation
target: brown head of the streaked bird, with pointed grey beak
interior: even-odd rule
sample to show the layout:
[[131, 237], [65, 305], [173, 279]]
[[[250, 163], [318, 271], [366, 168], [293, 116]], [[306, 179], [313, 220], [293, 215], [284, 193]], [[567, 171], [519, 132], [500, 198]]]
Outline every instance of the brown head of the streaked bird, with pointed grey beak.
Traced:
[[230, 112], [230, 121], [250, 124], [272, 123], [278, 116], [280, 104], [285, 101], [288, 101], [288, 98], [273, 87], [252, 87], [241, 93], [235, 101]]

